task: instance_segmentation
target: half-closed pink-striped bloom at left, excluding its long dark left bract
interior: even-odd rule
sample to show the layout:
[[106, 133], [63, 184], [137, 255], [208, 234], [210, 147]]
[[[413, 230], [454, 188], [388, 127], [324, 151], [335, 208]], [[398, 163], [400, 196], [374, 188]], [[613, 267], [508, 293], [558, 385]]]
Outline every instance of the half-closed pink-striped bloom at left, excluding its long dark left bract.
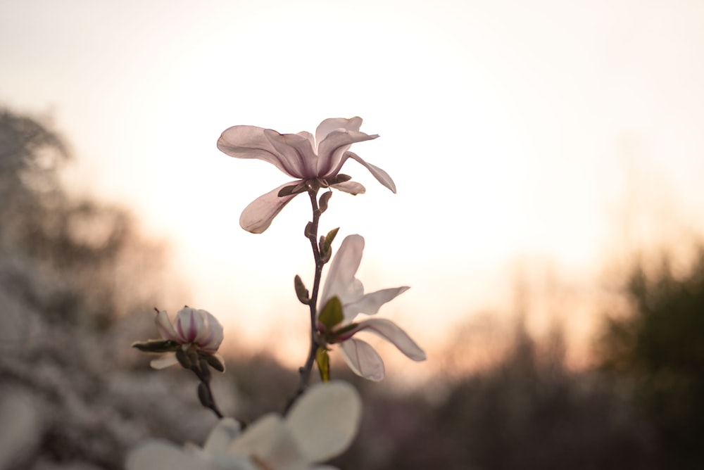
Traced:
[[[217, 352], [222, 343], [222, 325], [206, 310], [183, 307], [176, 314], [173, 324], [168, 314], [161, 310], [156, 315], [156, 328], [163, 339], [177, 343], [182, 350], [192, 349], [200, 355], [209, 356], [209, 359], [215, 359], [222, 364], [220, 370], [224, 370], [225, 362]], [[151, 367], [163, 369], [177, 363], [175, 352], [168, 352], [151, 361]]]

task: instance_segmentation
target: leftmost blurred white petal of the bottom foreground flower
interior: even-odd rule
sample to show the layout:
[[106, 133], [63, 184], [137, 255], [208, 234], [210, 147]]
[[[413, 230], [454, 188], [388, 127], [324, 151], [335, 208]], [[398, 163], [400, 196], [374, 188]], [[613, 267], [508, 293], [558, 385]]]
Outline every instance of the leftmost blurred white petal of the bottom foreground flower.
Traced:
[[126, 470], [203, 470], [213, 469], [205, 459], [185, 452], [171, 443], [153, 440], [136, 447], [127, 455]]

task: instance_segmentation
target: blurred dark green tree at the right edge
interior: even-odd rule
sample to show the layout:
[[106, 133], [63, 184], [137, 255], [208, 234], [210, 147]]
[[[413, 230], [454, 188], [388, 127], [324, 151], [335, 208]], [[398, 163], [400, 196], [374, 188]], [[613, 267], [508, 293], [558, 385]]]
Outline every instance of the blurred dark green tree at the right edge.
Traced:
[[657, 428], [662, 468], [704, 468], [704, 250], [676, 276], [666, 256], [657, 269], [631, 269], [629, 315], [608, 317], [601, 366], [632, 383], [641, 416]]

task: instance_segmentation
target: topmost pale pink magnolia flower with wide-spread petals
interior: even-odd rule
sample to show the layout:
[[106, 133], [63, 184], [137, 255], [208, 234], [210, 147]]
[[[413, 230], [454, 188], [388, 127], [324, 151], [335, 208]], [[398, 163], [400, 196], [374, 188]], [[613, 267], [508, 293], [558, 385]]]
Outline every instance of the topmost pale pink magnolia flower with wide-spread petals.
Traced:
[[296, 178], [296, 181], [282, 184], [248, 205], [239, 218], [241, 227], [254, 234], [262, 233], [284, 205], [307, 191], [309, 186], [333, 187], [351, 194], [364, 193], [364, 186], [339, 174], [348, 158], [364, 165], [381, 184], [396, 193], [396, 185], [389, 174], [348, 151], [355, 142], [378, 137], [360, 132], [361, 125], [362, 118], [330, 118], [320, 123], [315, 136], [310, 132], [279, 134], [255, 126], [234, 126], [222, 132], [218, 139], [220, 151], [231, 157], [264, 160]]

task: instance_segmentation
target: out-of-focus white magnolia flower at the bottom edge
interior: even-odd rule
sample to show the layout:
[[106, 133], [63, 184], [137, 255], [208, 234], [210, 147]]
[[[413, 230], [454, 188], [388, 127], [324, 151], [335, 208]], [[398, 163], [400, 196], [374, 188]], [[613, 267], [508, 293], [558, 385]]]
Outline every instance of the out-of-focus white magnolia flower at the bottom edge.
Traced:
[[221, 419], [203, 447], [152, 440], [130, 452], [127, 470], [334, 470], [316, 466], [344, 452], [356, 436], [362, 410], [345, 382], [318, 383], [286, 417], [267, 414], [244, 432]]

